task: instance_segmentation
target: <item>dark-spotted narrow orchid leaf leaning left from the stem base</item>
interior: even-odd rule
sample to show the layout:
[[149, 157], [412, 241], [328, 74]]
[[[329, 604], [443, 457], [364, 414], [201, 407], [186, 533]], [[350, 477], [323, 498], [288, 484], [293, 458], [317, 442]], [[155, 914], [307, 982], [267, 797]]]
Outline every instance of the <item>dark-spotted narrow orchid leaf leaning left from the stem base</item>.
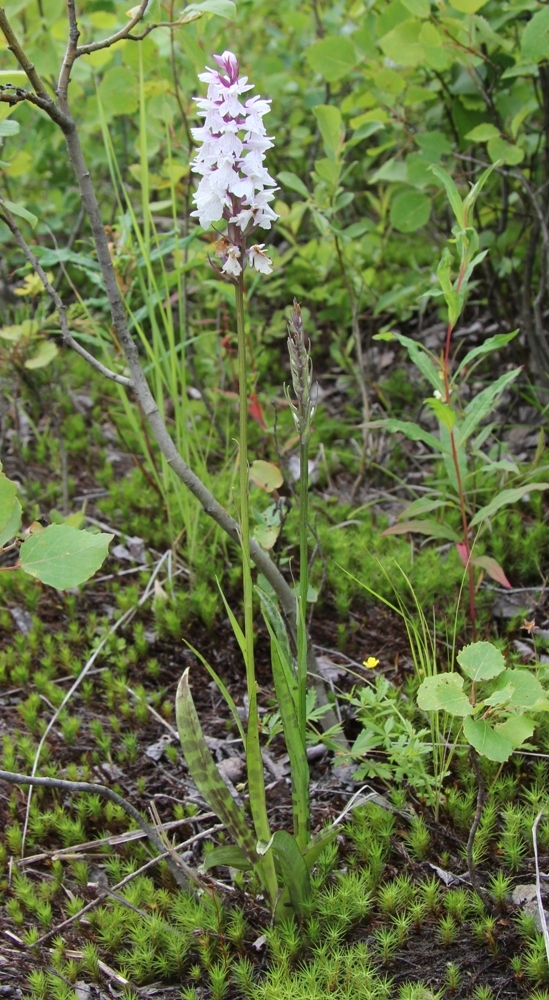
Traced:
[[189, 687], [189, 669], [185, 671], [175, 697], [177, 731], [189, 774], [212, 812], [221, 820], [238, 847], [254, 867], [258, 856], [255, 837], [237, 806], [206, 744]]

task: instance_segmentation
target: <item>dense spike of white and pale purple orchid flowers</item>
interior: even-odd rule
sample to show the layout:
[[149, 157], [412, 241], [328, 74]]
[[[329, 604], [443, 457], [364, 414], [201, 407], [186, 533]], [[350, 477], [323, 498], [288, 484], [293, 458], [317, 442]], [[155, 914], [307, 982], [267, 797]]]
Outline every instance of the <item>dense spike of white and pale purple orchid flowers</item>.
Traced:
[[[270, 101], [259, 96], [242, 99], [253, 85], [239, 75], [233, 52], [214, 59], [219, 68], [199, 74], [208, 84], [207, 96], [195, 98], [204, 123], [191, 130], [201, 143], [191, 164], [201, 175], [191, 214], [204, 229], [225, 219], [235, 230], [229, 228], [232, 242], [243, 245], [245, 236], [258, 227], [270, 229], [278, 218], [270, 204], [276, 181], [264, 165], [265, 152], [273, 145], [263, 124]], [[237, 263], [234, 255], [232, 259]]]

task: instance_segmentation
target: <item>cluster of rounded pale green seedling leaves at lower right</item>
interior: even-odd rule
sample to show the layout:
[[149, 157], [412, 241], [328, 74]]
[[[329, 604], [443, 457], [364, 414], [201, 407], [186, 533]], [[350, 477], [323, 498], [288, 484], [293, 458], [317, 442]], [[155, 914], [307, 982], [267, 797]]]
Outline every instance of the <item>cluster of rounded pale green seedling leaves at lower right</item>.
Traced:
[[463, 736], [473, 749], [503, 763], [532, 736], [532, 715], [549, 711], [547, 692], [530, 670], [506, 668], [503, 654], [491, 642], [472, 642], [457, 660], [465, 678], [458, 673], [426, 677], [418, 706], [462, 719]]

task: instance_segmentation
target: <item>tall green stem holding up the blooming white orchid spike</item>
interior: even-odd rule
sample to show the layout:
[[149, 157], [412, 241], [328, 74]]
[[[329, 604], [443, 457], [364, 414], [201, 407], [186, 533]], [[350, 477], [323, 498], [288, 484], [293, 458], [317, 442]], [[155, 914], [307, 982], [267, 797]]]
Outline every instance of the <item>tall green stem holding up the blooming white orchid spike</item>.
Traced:
[[[242, 577], [244, 590], [244, 638], [246, 686], [248, 689], [248, 732], [246, 736], [246, 765], [250, 808], [258, 840], [268, 842], [271, 830], [267, 816], [265, 778], [259, 743], [259, 718], [257, 712], [257, 681], [254, 664], [253, 584], [250, 556], [250, 512], [248, 503], [248, 375], [246, 364], [246, 333], [244, 327], [244, 282], [240, 275], [235, 286], [236, 330], [238, 337], [238, 380], [240, 401], [240, 544], [242, 548]], [[278, 884], [272, 851], [262, 858], [263, 884], [274, 906]]]

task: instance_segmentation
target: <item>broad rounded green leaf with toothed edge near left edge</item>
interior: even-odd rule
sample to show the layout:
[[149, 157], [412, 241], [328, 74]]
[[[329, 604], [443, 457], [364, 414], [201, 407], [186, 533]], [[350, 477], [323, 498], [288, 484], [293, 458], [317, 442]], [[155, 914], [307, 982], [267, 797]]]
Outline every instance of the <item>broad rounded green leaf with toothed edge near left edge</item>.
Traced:
[[70, 590], [89, 580], [109, 554], [114, 535], [91, 534], [66, 524], [50, 524], [19, 550], [21, 569], [56, 590]]

